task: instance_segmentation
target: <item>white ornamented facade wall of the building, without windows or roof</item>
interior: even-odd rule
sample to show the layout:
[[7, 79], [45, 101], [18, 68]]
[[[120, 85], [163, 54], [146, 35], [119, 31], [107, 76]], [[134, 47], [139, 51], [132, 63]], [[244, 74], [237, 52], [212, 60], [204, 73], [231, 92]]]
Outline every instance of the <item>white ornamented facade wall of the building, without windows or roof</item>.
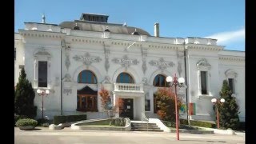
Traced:
[[[60, 29], [58, 26], [54, 26], [53, 31], [49, 32], [48, 25], [37, 25], [41, 30], [34, 31], [34, 25], [27, 23], [27, 30], [19, 30], [20, 34], [15, 34], [15, 46], [18, 49], [14, 78], [15, 82], [18, 82], [17, 66], [22, 64], [24, 57], [27, 78], [32, 82], [34, 90], [37, 90], [38, 60], [48, 62], [47, 89], [50, 89], [50, 94], [44, 98], [44, 107], [45, 115], [50, 118], [61, 114], [61, 109], [63, 114], [83, 114], [76, 111], [77, 90], [90, 86], [93, 90], [99, 91], [104, 87], [112, 92], [118, 74], [126, 72], [134, 78], [135, 84], [144, 84], [143, 95], [134, 98], [136, 100], [134, 108], [144, 105], [143, 99], [150, 99], [150, 111], [146, 112], [149, 118], [158, 117], [154, 114], [153, 95], [158, 90], [158, 87], [153, 86], [154, 77], [158, 74], [166, 77], [177, 74], [178, 78], [186, 78], [187, 75], [186, 87], [178, 89], [178, 96], [186, 103], [187, 88], [188, 103], [195, 103], [196, 106], [196, 114], [190, 118], [213, 120], [214, 111], [210, 100], [219, 97], [220, 85], [225, 79], [223, 74], [227, 69], [233, 69], [238, 73], [235, 89], [238, 91], [236, 95], [241, 110], [239, 116], [244, 117], [244, 60], [240, 62], [241, 64], [226, 62], [220, 60], [220, 55], [225, 58], [226, 55], [235, 55], [239, 58], [244, 56], [229, 52], [220, 54], [219, 51], [222, 51], [223, 47], [217, 46], [213, 39], [155, 38], [146, 35]], [[184, 50], [187, 52], [186, 66]], [[206, 95], [200, 94], [197, 64], [202, 59], [206, 59], [206, 63], [210, 64], [210, 66], [199, 66], [200, 70], [208, 70], [209, 94]], [[91, 70], [97, 77], [97, 84], [78, 84], [78, 74], [82, 70]], [[113, 98], [114, 94], [111, 93], [111, 97]], [[97, 102], [98, 113], [87, 112], [88, 118], [106, 118], [99, 94]], [[34, 104], [38, 106], [38, 117], [40, 117], [42, 97], [36, 95]], [[136, 110], [138, 111], [134, 116], [139, 118], [144, 112], [144, 106]], [[183, 116], [186, 118], [186, 112]]]

